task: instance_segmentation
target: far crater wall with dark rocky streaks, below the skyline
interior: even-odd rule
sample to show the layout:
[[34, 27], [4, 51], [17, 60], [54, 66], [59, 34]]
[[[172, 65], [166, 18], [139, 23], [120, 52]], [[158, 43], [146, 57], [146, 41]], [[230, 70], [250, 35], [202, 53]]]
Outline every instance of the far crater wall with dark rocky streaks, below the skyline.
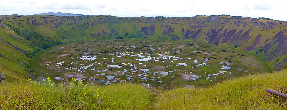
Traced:
[[18, 34], [35, 31], [46, 40], [69, 42], [127, 37], [139, 30], [145, 38], [218, 42], [230, 47], [238, 45], [238, 49], [254, 52], [277, 70], [287, 62], [286, 21], [231, 16], [125, 18], [53, 15], [8, 15], [0, 16], [0, 21]]

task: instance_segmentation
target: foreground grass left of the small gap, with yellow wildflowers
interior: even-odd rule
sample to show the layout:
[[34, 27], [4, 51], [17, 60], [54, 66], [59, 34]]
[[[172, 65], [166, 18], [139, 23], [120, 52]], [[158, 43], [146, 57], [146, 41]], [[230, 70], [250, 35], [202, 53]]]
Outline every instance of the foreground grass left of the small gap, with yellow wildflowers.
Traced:
[[[77, 82], [67, 86], [53, 83], [8, 82], [1, 85], [0, 109], [148, 109], [150, 94], [138, 84], [91, 86]], [[99, 91], [99, 92], [98, 92]], [[98, 94], [99, 93], [99, 94]], [[99, 95], [99, 96], [98, 96]]]

